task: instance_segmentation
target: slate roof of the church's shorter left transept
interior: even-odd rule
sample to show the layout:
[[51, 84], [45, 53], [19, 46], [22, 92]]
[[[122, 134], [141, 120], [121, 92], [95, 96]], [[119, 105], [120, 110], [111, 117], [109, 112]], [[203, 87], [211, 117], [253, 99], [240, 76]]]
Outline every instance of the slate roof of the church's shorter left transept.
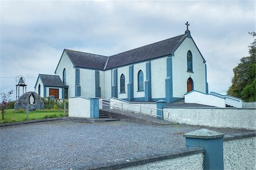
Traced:
[[64, 49], [69, 59], [75, 67], [92, 68], [103, 70], [105, 67], [107, 56], [95, 55], [92, 53], [73, 51], [70, 49]]

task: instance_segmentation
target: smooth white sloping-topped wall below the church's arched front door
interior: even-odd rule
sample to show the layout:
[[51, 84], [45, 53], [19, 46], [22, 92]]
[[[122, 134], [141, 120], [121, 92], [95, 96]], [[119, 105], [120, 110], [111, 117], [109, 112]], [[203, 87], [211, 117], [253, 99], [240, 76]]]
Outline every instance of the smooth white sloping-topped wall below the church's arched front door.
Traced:
[[193, 91], [184, 95], [185, 103], [198, 103], [201, 105], [209, 105], [216, 107], [226, 107], [225, 99], [213, 96], [211, 94], [203, 94], [200, 92]]

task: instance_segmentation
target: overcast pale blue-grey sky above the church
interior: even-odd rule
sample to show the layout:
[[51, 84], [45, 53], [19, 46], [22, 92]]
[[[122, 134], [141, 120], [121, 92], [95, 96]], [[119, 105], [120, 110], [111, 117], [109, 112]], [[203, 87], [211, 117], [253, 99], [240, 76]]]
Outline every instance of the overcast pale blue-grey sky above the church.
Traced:
[[188, 21], [207, 61], [209, 91], [225, 93], [255, 31], [255, 1], [0, 3], [0, 92], [15, 90], [18, 75], [34, 91], [39, 73], [54, 74], [64, 48], [110, 56], [184, 34]]

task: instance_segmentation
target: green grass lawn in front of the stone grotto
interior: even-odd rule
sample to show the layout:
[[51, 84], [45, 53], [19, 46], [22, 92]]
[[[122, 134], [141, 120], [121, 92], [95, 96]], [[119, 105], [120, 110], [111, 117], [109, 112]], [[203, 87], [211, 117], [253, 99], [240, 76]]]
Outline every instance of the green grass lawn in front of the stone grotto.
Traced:
[[[57, 118], [63, 117], [64, 111], [60, 110], [35, 110], [30, 111], [28, 113], [29, 120], [36, 119], [45, 119], [45, 118]], [[68, 113], [66, 113], [68, 116]], [[5, 110], [5, 120], [2, 119], [2, 114], [0, 118], [0, 123], [11, 123], [11, 122], [21, 122], [27, 121], [27, 113], [25, 110], [14, 110], [14, 109], [6, 109]]]

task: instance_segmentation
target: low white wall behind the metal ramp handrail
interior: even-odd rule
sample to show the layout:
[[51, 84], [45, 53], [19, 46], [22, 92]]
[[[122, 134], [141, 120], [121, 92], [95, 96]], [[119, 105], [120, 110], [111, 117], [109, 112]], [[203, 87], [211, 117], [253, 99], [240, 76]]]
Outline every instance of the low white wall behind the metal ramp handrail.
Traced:
[[[116, 98], [110, 98], [110, 103], [111, 105], [115, 105], [117, 107], [122, 107], [123, 105], [123, 111], [127, 112], [139, 112], [140, 110], [142, 111], [142, 114], [150, 114], [152, 116], [156, 115], [156, 103], [154, 102], [127, 102], [123, 101], [121, 99], [116, 99]], [[142, 107], [140, 107], [142, 106]], [[146, 106], [146, 107], [143, 107]], [[121, 108], [117, 107], [110, 107], [111, 109], [117, 109], [117, 110], [122, 110]], [[147, 107], [152, 107], [152, 108], [147, 108]], [[133, 110], [133, 111], [131, 111]]]

